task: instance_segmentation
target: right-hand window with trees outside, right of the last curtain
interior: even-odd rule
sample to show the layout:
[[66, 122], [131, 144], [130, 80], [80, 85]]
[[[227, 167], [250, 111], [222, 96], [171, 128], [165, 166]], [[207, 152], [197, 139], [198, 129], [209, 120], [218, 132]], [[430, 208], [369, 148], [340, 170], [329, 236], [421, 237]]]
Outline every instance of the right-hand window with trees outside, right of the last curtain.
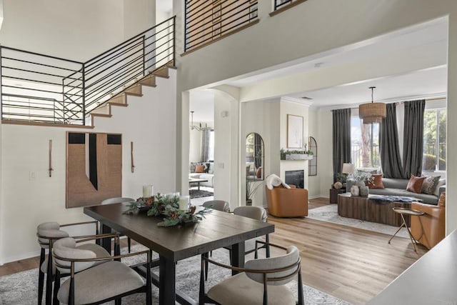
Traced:
[[423, 114], [423, 171], [446, 171], [446, 109]]

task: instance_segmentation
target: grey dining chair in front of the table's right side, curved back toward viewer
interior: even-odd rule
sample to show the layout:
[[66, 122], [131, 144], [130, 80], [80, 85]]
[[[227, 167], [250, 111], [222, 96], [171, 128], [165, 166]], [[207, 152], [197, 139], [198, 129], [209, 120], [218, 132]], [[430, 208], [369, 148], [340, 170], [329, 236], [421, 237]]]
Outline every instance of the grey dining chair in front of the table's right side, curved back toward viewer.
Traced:
[[[257, 241], [257, 244], [261, 242]], [[298, 304], [304, 304], [301, 281], [301, 259], [296, 246], [268, 246], [283, 249], [286, 254], [246, 261], [244, 268], [221, 264], [202, 256], [199, 304], [297, 304], [293, 292], [285, 285], [297, 276]], [[205, 294], [205, 263], [216, 264], [239, 273], [220, 281]]]

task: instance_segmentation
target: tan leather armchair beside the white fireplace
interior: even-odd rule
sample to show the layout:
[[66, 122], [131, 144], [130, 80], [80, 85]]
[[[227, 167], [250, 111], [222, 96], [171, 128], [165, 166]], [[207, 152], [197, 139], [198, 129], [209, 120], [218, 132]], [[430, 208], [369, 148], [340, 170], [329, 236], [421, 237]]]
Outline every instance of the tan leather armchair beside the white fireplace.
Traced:
[[308, 216], [308, 190], [265, 186], [268, 214], [276, 217]]

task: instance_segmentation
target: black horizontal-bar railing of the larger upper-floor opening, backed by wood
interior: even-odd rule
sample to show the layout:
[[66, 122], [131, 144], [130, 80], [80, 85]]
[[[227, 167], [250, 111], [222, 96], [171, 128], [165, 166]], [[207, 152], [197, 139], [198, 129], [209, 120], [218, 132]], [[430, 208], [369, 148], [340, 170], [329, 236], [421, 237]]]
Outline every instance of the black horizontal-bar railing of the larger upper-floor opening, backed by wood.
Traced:
[[184, 51], [191, 51], [258, 20], [257, 0], [186, 0]]

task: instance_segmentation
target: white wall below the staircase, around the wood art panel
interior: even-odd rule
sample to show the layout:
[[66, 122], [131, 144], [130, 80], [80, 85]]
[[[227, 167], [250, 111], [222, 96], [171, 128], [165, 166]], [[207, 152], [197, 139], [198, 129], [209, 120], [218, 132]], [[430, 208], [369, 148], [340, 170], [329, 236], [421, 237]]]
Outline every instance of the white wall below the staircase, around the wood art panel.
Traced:
[[[153, 184], [155, 192], [176, 191], [176, 71], [170, 75], [157, 79], [156, 88], [144, 86], [144, 96], [129, 96], [128, 107], [113, 107], [111, 118], [96, 118], [94, 129], [1, 126], [0, 263], [38, 255], [36, 226], [44, 221], [91, 220], [82, 208], [65, 208], [66, 131], [122, 134], [123, 196], [138, 198], [145, 184]], [[52, 177], [47, 171], [49, 139], [53, 140]]]

